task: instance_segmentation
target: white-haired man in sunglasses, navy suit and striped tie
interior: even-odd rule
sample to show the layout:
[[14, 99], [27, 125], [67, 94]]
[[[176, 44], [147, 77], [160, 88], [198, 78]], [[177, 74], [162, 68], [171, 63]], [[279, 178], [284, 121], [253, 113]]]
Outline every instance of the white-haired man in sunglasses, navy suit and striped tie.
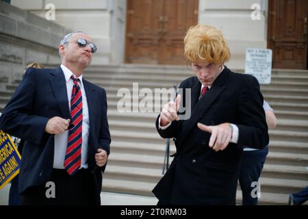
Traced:
[[24, 205], [99, 205], [110, 153], [107, 98], [83, 79], [97, 47], [83, 32], [61, 40], [62, 64], [29, 68], [0, 118], [25, 140], [19, 181]]

